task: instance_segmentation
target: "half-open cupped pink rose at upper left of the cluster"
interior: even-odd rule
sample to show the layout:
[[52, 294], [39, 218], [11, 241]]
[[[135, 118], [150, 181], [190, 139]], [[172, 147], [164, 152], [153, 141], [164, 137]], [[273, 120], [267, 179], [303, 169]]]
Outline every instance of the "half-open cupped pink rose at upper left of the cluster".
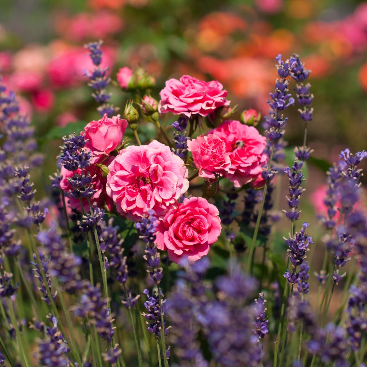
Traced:
[[109, 154], [121, 145], [126, 127], [127, 121], [120, 119], [120, 115], [109, 118], [105, 114], [101, 120], [91, 121], [84, 128], [85, 138], [89, 139], [86, 149], [92, 150], [94, 155]]

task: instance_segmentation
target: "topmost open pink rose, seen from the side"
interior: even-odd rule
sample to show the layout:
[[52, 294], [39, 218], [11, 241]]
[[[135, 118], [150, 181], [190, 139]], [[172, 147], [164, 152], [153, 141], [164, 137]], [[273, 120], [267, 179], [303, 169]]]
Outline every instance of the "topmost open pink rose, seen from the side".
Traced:
[[166, 81], [166, 87], [160, 91], [159, 112], [172, 112], [174, 115], [183, 113], [208, 116], [218, 107], [228, 106], [227, 91], [218, 81], [207, 83], [188, 75]]

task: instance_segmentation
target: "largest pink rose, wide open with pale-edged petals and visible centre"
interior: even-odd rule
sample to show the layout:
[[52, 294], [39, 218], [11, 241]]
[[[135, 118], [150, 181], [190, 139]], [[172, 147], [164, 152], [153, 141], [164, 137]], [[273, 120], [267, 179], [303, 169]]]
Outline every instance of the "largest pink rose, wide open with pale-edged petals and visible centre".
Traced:
[[164, 216], [189, 188], [183, 160], [156, 140], [121, 150], [108, 170], [107, 193], [131, 221], [140, 221], [148, 209]]

